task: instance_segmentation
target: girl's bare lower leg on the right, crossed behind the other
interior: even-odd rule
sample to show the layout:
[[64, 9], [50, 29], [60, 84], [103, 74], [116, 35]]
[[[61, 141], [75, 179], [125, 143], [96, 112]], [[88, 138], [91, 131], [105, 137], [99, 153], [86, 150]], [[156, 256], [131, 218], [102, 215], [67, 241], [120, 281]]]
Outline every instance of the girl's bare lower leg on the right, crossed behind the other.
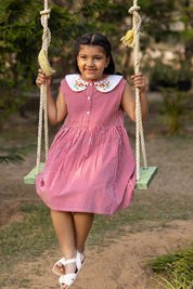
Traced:
[[85, 250], [85, 242], [91, 229], [94, 219], [93, 213], [75, 212], [74, 226], [75, 226], [75, 245], [76, 249], [82, 253]]

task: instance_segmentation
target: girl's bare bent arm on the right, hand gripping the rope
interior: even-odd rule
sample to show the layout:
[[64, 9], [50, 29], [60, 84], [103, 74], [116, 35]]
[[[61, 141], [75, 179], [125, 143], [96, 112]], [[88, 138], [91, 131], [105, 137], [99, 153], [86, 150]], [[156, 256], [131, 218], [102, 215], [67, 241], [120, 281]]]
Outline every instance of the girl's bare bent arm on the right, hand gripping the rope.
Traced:
[[[147, 118], [149, 114], [149, 104], [145, 93], [145, 81], [144, 77], [141, 74], [137, 74], [131, 77], [134, 88], [138, 88], [140, 91], [140, 104], [141, 104], [141, 116], [142, 121], [144, 122]], [[126, 87], [124, 89], [124, 93], [121, 96], [121, 107], [126, 111], [126, 114], [129, 116], [129, 118], [136, 122], [136, 97], [132, 94], [132, 91], [128, 83], [126, 83]]]

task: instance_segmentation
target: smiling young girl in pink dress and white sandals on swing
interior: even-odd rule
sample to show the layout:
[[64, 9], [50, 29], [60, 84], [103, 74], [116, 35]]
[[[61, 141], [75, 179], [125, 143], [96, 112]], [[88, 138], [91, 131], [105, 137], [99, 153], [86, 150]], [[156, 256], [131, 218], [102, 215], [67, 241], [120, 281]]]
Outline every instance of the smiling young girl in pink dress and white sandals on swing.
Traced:
[[[94, 213], [114, 214], [128, 207], [136, 184], [136, 162], [124, 128], [124, 110], [136, 121], [136, 102], [115, 66], [108, 40], [86, 34], [75, 45], [77, 74], [61, 82], [56, 103], [51, 77], [39, 70], [37, 86], [47, 81], [48, 114], [52, 124], [65, 122], [56, 134], [44, 170], [36, 179], [37, 193], [51, 209], [64, 257], [53, 272], [68, 288], [82, 267], [87, 236]], [[131, 77], [140, 90], [142, 119], [147, 116], [145, 82]]]

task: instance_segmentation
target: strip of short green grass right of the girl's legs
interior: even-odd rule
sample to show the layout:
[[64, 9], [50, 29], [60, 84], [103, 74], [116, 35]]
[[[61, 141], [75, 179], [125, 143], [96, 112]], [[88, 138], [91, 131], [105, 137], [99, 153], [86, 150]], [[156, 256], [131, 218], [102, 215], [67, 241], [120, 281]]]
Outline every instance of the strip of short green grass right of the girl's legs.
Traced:
[[[141, 192], [139, 194], [142, 194]], [[144, 193], [143, 193], [144, 194]], [[169, 194], [168, 194], [169, 195]], [[116, 239], [126, 233], [162, 229], [175, 220], [189, 220], [192, 216], [190, 196], [173, 199], [156, 195], [140, 195], [129, 209], [113, 216], [97, 215], [91, 231], [90, 244], [100, 246], [106, 240]], [[157, 201], [158, 198], [158, 201]]]

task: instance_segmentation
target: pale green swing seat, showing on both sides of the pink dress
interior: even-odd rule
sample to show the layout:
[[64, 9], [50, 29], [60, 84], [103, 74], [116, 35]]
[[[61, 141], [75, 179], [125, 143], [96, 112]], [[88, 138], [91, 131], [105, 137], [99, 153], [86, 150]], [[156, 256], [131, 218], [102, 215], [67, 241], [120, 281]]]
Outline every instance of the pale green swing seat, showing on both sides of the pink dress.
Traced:
[[[26, 176], [24, 176], [25, 184], [35, 184], [36, 176], [37, 176], [37, 167], [35, 167]], [[44, 162], [40, 162], [40, 172], [43, 171]], [[150, 183], [154, 179], [155, 174], [157, 173], [156, 167], [149, 167], [146, 169], [140, 168], [140, 181], [136, 183], [136, 189], [147, 189]]]

